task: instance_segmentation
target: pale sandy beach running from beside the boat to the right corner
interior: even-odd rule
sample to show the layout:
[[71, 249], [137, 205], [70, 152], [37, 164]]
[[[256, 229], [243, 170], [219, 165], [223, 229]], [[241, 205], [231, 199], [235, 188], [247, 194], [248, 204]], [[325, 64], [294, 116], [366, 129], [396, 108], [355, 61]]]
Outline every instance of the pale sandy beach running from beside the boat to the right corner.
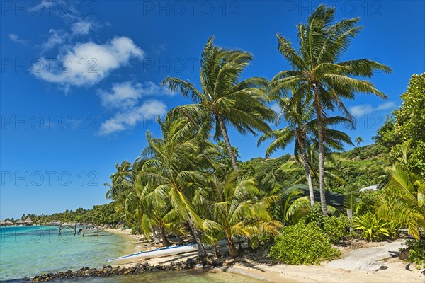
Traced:
[[[106, 229], [110, 233], [127, 236], [135, 242], [135, 251], [146, 246], [145, 237], [130, 234], [130, 229]], [[235, 272], [263, 279], [268, 282], [425, 282], [421, 270], [409, 267], [395, 255], [403, 241], [380, 243], [358, 242], [348, 248], [340, 248], [342, 257], [322, 265], [268, 265], [249, 259], [226, 260], [222, 271]], [[146, 250], [154, 247], [147, 248]], [[122, 260], [116, 265], [132, 266], [141, 262], [150, 265], [167, 265], [196, 257], [196, 253], [171, 255], [162, 258]], [[215, 269], [217, 270], [217, 269]]]

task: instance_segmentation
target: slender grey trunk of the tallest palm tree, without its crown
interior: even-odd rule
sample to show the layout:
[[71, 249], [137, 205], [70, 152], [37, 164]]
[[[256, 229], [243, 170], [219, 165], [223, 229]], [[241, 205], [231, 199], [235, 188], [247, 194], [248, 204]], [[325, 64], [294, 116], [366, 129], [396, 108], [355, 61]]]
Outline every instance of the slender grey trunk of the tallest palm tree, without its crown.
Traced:
[[319, 107], [319, 92], [317, 91], [316, 84], [313, 84], [314, 87], [314, 96], [316, 103], [316, 112], [317, 112], [317, 135], [319, 137], [319, 190], [320, 190], [320, 202], [322, 204], [323, 216], [327, 216], [327, 207], [326, 207], [326, 196], [324, 195], [324, 146], [323, 146], [323, 120], [322, 112]]

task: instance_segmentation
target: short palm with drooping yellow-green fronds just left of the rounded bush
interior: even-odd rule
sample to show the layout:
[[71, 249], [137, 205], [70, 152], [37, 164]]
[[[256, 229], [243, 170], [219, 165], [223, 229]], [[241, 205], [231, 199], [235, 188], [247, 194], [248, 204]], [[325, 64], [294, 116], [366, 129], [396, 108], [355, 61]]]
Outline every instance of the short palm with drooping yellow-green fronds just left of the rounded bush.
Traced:
[[212, 219], [205, 221], [204, 229], [211, 238], [224, 235], [232, 257], [238, 255], [235, 236], [251, 238], [264, 233], [279, 233], [280, 223], [273, 220], [268, 211], [276, 197], [259, 198], [260, 192], [254, 180], [239, 178], [239, 174], [233, 172], [225, 180], [212, 175], [210, 183], [215, 202], [210, 205]]

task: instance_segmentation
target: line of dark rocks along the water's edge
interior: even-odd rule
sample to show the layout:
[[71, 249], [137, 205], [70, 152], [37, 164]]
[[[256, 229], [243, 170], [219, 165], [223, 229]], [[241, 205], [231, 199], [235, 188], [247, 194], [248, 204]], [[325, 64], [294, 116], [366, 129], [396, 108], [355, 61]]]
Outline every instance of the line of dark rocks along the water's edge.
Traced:
[[179, 271], [179, 270], [192, 270], [194, 268], [215, 268], [223, 267], [225, 259], [212, 259], [204, 258], [188, 258], [186, 261], [171, 262], [169, 265], [149, 265], [149, 263], [137, 263], [131, 267], [112, 267], [111, 265], [104, 265], [101, 268], [83, 267], [80, 270], [57, 273], [45, 273], [35, 276], [30, 279], [31, 282], [48, 282], [55, 279], [73, 279], [79, 277], [111, 277], [114, 275], [137, 275], [144, 272], [158, 272], [158, 271]]

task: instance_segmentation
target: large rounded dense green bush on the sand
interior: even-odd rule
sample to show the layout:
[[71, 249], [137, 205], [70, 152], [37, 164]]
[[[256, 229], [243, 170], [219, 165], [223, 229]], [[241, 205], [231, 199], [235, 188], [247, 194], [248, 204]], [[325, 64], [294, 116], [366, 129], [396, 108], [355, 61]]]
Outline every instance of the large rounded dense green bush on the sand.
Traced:
[[329, 237], [313, 222], [300, 221], [285, 226], [275, 238], [269, 255], [288, 265], [315, 265], [322, 260], [331, 260], [341, 255], [333, 248]]

